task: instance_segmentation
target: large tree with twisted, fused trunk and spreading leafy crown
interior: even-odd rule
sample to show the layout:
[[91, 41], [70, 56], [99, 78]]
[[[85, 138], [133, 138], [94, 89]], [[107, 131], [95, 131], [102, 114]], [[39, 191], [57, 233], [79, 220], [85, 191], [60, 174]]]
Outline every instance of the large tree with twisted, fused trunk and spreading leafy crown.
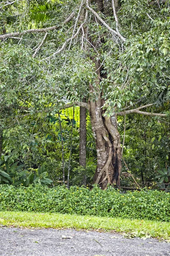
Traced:
[[[11, 25], [6, 35], [0, 35], [0, 40], [7, 40], [2, 42], [3, 52], [12, 49], [13, 54], [19, 48], [26, 49], [35, 68], [25, 72], [29, 75], [36, 72], [24, 80], [26, 84], [29, 79], [36, 84], [31, 85], [34, 95], [26, 91], [28, 100], [17, 95], [7, 105], [19, 106], [23, 112], [46, 111], [48, 114], [74, 105], [88, 109], [97, 151], [94, 183], [102, 189], [110, 184], [120, 186], [122, 155], [117, 116], [138, 113], [164, 118], [169, 113], [169, 3], [156, 3], [158, 1], [120, 3], [112, 0], [104, 4], [103, 0], [91, 3], [82, 0], [70, 4], [58, 0], [46, 9], [40, 5], [40, 11], [45, 12], [43, 22], [38, 24], [34, 17], [36, 28], [26, 29], [33, 21], [30, 14], [34, 13], [35, 6], [32, 3], [27, 7], [28, 21], [24, 23], [25, 16], [20, 17], [23, 31], [13, 32]], [[45, 35], [41, 40], [38, 37], [37, 45], [40, 33]], [[19, 46], [11, 43], [10, 38], [14, 37], [21, 37]], [[11, 54], [3, 55], [3, 61], [10, 64]], [[22, 61], [24, 69], [29, 70], [28, 60]], [[23, 67], [19, 73], [17, 70], [16, 65], [10, 90], [5, 87], [10, 92], [16, 92], [14, 84], [24, 76]], [[42, 80], [40, 90], [37, 83]], [[1, 81], [6, 81], [3, 74]], [[21, 91], [21, 87], [17, 88]], [[65, 105], [63, 95], [71, 104]], [[88, 103], [82, 102], [84, 98]], [[143, 109], [148, 112], [141, 111]]]

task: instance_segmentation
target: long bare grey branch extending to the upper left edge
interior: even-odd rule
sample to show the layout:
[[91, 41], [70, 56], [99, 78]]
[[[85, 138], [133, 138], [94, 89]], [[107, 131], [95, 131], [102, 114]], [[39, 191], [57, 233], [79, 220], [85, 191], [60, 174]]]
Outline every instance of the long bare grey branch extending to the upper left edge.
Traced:
[[[74, 17], [74, 15], [75, 15], [74, 12], [72, 12], [71, 15], [63, 22], [63, 24], [68, 23]], [[10, 37], [30, 34], [30, 33], [46, 33], [47, 31], [59, 29], [59, 27], [60, 26], [52, 26], [45, 29], [27, 29], [27, 30], [24, 30], [23, 32], [14, 32], [14, 33], [9, 33], [5, 35], [0, 35], [0, 40], [5, 38], [10, 38]]]

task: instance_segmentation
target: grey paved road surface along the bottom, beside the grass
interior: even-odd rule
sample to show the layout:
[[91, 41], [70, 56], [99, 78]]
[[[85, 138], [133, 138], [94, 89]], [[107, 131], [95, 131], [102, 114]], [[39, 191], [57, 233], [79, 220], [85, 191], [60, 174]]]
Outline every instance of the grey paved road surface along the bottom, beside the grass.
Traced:
[[170, 256], [170, 244], [155, 239], [125, 239], [117, 233], [1, 227], [0, 256], [7, 255]]

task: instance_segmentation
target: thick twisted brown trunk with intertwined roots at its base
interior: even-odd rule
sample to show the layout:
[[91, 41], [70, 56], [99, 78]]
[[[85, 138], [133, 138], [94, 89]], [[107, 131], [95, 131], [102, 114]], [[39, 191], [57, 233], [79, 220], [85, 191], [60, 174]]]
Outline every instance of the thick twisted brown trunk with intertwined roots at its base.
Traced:
[[[96, 0], [96, 4], [99, 11], [103, 12], [103, 0]], [[97, 42], [91, 41], [91, 43], [95, 48], [98, 48]], [[122, 169], [120, 135], [116, 122], [112, 122], [111, 117], [108, 118], [102, 111], [102, 106], [105, 102], [100, 91], [100, 77], [102, 76], [100, 61], [94, 56], [91, 59], [96, 66], [95, 91], [98, 94], [97, 100], [89, 99], [91, 125], [97, 151], [97, 168], [94, 175], [94, 183], [99, 184], [102, 189], [107, 189], [109, 185], [114, 184], [120, 187], [120, 172]], [[90, 85], [90, 91], [93, 90], [93, 86]], [[116, 116], [114, 121], [116, 121]]]

